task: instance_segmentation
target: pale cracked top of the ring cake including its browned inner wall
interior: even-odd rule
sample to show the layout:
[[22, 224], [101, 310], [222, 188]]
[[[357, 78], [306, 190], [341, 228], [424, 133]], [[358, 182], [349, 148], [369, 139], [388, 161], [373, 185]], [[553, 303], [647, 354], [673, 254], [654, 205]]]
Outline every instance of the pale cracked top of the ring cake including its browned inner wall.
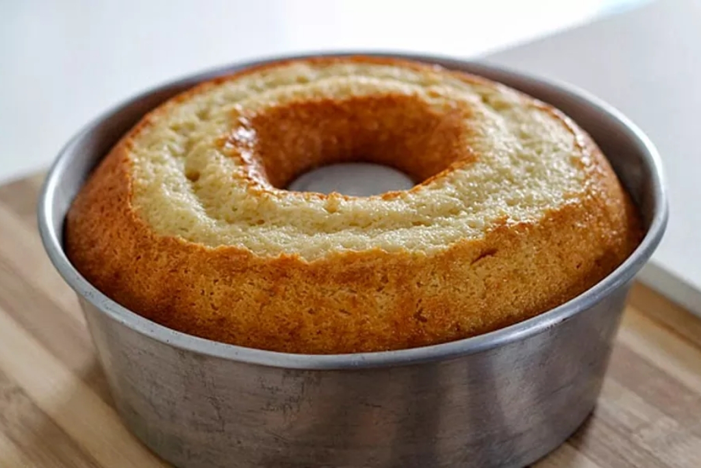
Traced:
[[[390, 60], [290, 61], [203, 83], [151, 112], [123, 147], [132, 206], [154, 232], [271, 257], [430, 254], [596, 189], [583, 133], [557, 110]], [[417, 185], [368, 197], [285, 189], [346, 161], [393, 166]]]

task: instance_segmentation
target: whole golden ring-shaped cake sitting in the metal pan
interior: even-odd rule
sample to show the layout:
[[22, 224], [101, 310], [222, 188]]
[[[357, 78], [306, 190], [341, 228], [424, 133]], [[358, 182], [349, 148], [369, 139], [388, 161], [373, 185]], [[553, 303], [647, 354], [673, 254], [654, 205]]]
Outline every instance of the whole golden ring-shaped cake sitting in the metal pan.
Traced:
[[[344, 161], [416, 186], [285, 189]], [[339, 353], [529, 318], [639, 236], [608, 161], [561, 112], [477, 76], [354, 57], [254, 67], [165, 102], [91, 175], [66, 246], [88, 281], [165, 326]]]

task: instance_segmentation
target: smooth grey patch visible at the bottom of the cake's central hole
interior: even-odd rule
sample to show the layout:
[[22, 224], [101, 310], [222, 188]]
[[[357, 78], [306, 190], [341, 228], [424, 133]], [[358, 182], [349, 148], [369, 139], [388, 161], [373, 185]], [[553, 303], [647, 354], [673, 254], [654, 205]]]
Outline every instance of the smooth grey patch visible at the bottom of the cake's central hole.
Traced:
[[336, 192], [347, 196], [372, 196], [408, 190], [414, 181], [402, 171], [375, 163], [338, 163], [304, 173], [287, 186], [294, 192]]

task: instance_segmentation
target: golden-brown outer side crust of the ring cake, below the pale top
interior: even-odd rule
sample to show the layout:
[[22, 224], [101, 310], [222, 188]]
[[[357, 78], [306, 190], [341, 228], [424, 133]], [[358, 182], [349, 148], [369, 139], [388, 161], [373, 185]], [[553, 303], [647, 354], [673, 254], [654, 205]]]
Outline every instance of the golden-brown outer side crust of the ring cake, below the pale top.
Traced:
[[[377, 58], [316, 60], [426, 67]], [[172, 102], [255, 70], [205, 83]], [[574, 135], [587, 161], [584, 194], [538, 220], [504, 219], [481, 239], [428, 253], [339, 249], [310, 260], [154, 232], [132, 204], [130, 152], [134, 135], [162, 112], [157, 109], [125, 135], [76, 197], [67, 216], [67, 254], [90, 283], [132, 311], [184, 333], [246, 347], [368, 352], [495, 330], [590, 288], [640, 239], [637, 213], [594, 142], [557, 110], [528, 102]]]

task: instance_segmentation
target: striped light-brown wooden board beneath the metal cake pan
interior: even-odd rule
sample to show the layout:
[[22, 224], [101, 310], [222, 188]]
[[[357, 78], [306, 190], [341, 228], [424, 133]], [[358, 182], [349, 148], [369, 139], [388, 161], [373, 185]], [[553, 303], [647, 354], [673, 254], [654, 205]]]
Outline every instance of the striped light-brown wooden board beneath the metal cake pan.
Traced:
[[[0, 186], [0, 467], [167, 467], [115, 413], [36, 232], [40, 184]], [[701, 321], [634, 286], [594, 414], [534, 466], [700, 468]]]

